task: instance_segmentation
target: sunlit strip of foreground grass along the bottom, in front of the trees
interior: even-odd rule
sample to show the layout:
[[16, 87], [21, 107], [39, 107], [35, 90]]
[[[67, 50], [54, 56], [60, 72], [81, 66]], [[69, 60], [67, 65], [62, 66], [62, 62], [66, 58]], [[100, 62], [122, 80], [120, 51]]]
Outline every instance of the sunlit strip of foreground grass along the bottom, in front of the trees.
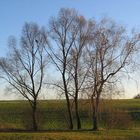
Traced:
[[0, 140], [140, 140], [140, 130], [0, 133]]

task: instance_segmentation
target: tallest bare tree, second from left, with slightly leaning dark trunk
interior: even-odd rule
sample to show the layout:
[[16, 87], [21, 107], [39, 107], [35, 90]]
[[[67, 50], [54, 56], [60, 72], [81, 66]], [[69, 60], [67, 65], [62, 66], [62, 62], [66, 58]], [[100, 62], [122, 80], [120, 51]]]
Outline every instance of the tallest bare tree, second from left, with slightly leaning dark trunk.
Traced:
[[[69, 77], [67, 75], [67, 66], [69, 63], [69, 53], [74, 43], [76, 32], [74, 31], [73, 21], [76, 19], [77, 13], [71, 9], [61, 9], [57, 18], [50, 20], [50, 31], [52, 45], [47, 49], [53, 64], [62, 76], [63, 86], [57, 84], [62, 92], [64, 92], [67, 103], [69, 129], [73, 129], [71, 105], [69, 99]], [[56, 84], [55, 84], [56, 85]]]

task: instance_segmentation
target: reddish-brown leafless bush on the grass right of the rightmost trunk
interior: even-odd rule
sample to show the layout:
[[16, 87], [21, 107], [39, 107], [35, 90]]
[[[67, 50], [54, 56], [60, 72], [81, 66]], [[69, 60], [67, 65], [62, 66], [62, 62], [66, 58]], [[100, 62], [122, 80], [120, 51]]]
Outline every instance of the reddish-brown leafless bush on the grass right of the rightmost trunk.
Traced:
[[126, 110], [115, 109], [112, 101], [102, 102], [100, 121], [107, 129], [128, 129], [132, 127], [131, 115]]

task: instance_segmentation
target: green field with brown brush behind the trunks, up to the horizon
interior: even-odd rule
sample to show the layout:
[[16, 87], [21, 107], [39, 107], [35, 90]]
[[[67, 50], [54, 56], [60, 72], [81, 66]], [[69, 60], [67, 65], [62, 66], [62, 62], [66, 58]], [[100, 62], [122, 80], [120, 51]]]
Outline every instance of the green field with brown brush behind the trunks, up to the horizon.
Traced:
[[[64, 100], [39, 102], [37, 120], [39, 130], [67, 130], [67, 114]], [[103, 101], [102, 101], [103, 103]], [[79, 103], [82, 129], [92, 128], [90, 104], [87, 100]], [[104, 101], [100, 105], [101, 129], [136, 129], [140, 127], [140, 100]], [[111, 107], [109, 107], [111, 106]], [[31, 130], [30, 106], [27, 101], [0, 102], [0, 129]], [[73, 116], [75, 122], [75, 116]], [[76, 129], [76, 124], [74, 123]]]

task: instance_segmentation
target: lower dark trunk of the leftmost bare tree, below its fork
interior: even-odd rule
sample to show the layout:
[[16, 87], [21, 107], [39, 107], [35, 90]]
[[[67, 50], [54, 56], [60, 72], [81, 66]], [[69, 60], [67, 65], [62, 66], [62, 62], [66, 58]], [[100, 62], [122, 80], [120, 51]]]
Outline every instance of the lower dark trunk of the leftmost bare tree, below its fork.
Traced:
[[32, 127], [33, 127], [34, 131], [38, 130], [37, 119], [36, 119], [36, 111], [37, 111], [37, 108], [36, 108], [36, 101], [35, 101], [34, 104], [33, 104], [33, 108], [32, 108], [32, 123], [33, 123]]

